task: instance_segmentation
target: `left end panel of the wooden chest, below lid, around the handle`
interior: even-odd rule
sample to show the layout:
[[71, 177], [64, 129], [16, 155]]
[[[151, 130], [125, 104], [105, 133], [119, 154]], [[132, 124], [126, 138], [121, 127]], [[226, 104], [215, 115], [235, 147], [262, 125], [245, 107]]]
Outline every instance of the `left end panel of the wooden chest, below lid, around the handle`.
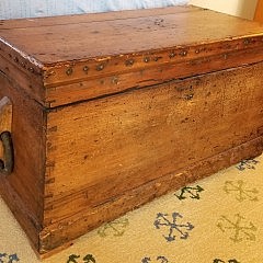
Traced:
[[[11, 82], [0, 71], [0, 99], [4, 96], [11, 101], [12, 117], [5, 112], [8, 122], [0, 128], [8, 128], [12, 134], [15, 165], [11, 175], [0, 174], [0, 192], [34, 247], [38, 248], [43, 220], [44, 113], [38, 104], [21, 92], [16, 82]], [[2, 124], [2, 116], [0, 118]]]

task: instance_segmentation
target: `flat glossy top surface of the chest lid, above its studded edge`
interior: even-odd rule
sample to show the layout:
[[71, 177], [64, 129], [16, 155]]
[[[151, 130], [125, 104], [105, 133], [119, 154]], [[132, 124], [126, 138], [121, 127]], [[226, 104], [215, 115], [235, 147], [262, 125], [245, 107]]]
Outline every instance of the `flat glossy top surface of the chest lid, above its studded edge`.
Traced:
[[[1, 30], [1, 37], [44, 65], [136, 54], [259, 35], [263, 27], [209, 10]], [[122, 14], [122, 13], [121, 13]], [[89, 15], [89, 14], [88, 14]], [[201, 20], [202, 16], [202, 20]], [[7, 22], [8, 23], [8, 22]], [[215, 30], [216, 25], [216, 30]], [[81, 37], [80, 37], [81, 36]], [[149, 37], [150, 36], [150, 37]], [[34, 39], [34, 41], [33, 41]], [[165, 42], [163, 42], [165, 39]]]

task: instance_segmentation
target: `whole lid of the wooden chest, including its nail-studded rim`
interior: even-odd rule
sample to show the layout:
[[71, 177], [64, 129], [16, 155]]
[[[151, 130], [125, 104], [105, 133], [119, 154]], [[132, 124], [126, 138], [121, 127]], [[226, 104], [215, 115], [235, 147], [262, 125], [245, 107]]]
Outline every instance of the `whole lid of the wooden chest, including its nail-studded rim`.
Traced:
[[46, 107], [262, 60], [262, 25], [192, 5], [0, 22], [0, 70]]

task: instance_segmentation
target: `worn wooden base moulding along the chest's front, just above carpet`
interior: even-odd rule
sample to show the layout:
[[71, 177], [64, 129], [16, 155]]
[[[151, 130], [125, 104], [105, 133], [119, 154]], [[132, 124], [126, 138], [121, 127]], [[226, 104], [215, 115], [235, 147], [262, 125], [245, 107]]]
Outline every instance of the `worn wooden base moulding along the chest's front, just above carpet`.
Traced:
[[73, 215], [70, 219], [66, 218], [49, 225], [39, 235], [41, 256], [49, 256], [54, 253], [54, 249], [59, 251], [70, 245], [72, 239], [94, 229], [104, 221], [113, 220], [169, 191], [175, 191], [196, 180], [228, 168], [242, 159], [259, 156], [262, 151], [263, 137], [261, 136], [217, 156], [193, 163], [174, 173], [147, 182], [96, 207], [87, 207], [85, 210]]

